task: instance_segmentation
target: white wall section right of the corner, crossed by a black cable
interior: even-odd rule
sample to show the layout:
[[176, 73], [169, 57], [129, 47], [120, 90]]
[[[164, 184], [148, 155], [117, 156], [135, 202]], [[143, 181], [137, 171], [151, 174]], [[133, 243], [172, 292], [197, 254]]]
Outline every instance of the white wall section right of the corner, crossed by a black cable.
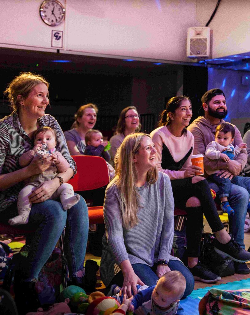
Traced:
[[[217, 0], [196, 0], [197, 26], [205, 26]], [[213, 58], [250, 51], [249, 0], [223, 0], [209, 24], [213, 30]]]

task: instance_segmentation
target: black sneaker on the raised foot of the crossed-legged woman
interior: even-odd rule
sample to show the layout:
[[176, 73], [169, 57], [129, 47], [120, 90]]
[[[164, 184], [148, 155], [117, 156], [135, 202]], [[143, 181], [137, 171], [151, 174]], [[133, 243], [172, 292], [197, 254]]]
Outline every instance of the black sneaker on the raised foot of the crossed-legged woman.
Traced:
[[250, 260], [250, 253], [241, 248], [240, 245], [232, 239], [226, 244], [219, 243], [216, 240], [214, 250], [218, 254], [232, 258], [233, 261], [246, 262]]

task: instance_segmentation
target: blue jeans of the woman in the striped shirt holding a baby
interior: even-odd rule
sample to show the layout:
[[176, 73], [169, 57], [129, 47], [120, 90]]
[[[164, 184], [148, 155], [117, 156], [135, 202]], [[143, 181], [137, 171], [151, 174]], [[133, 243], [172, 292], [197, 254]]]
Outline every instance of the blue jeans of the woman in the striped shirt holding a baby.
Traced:
[[[8, 222], [7, 217], [12, 218], [13, 214], [17, 215], [16, 205], [0, 214], [1, 222]], [[26, 238], [30, 250], [25, 264], [24, 281], [37, 279], [65, 225], [65, 254], [69, 276], [83, 269], [89, 225], [86, 202], [81, 197], [71, 209], [64, 210], [59, 201], [48, 199], [42, 203], [33, 203], [28, 224], [18, 226], [25, 230], [35, 230], [32, 236]]]

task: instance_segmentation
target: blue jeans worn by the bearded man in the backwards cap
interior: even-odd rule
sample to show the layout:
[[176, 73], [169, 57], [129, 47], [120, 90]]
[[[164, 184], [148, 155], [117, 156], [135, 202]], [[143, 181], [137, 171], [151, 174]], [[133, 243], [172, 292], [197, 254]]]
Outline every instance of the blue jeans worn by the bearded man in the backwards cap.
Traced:
[[[244, 224], [247, 214], [247, 204], [249, 202], [250, 178], [239, 176], [238, 179], [243, 185], [246, 186], [247, 190], [240, 186], [231, 184], [231, 192], [229, 194], [228, 201], [230, 206], [234, 209], [234, 215], [232, 217], [232, 232], [234, 239], [236, 243], [238, 243], [244, 249]], [[209, 187], [214, 189], [216, 194], [218, 194], [218, 185], [212, 183], [209, 180], [208, 183]]]

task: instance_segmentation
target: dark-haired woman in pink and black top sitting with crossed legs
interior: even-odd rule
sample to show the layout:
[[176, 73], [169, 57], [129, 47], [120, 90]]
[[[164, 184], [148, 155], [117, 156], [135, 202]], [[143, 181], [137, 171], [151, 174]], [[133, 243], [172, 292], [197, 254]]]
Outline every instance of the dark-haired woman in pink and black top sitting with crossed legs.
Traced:
[[161, 114], [158, 128], [150, 134], [157, 150], [158, 169], [171, 180], [175, 205], [187, 213], [186, 237], [188, 268], [195, 280], [206, 283], [220, 280], [220, 277], [198, 260], [199, 244], [203, 229], [203, 213], [216, 236], [215, 250], [223, 252], [235, 261], [247, 259], [245, 250], [231, 240], [221, 223], [207, 180], [194, 176], [200, 172], [192, 166], [191, 156], [194, 137], [186, 130], [192, 117], [190, 99], [185, 96], [172, 97]]

